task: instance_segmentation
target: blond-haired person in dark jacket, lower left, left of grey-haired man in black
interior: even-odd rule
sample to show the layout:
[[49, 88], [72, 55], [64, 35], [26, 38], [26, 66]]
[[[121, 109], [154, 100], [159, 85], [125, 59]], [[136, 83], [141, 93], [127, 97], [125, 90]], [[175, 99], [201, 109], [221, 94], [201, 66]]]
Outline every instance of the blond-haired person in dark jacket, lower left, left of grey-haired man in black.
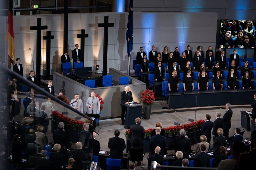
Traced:
[[61, 149], [61, 145], [56, 143], [53, 146], [53, 150], [54, 152], [51, 154], [51, 161], [53, 161], [53, 168], [55, 170], [62, 170], [62, 168], [64, 167], [64, 159], [63, 159], [63, 155], [61, 153], [59, 153]]

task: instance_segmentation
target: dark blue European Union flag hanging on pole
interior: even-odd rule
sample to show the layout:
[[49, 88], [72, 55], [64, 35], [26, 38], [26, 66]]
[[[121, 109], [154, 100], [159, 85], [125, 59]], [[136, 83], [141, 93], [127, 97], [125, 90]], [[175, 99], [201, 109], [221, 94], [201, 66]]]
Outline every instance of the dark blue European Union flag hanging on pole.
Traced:
[[133, 0], [130, 0], [130, 5], [129, 5], [126, 40], [127, 40], [127, 53], [128, 53], [128, 57], [130, 57], [130, 52], [132, 51], [132, 45], [133, 45]]

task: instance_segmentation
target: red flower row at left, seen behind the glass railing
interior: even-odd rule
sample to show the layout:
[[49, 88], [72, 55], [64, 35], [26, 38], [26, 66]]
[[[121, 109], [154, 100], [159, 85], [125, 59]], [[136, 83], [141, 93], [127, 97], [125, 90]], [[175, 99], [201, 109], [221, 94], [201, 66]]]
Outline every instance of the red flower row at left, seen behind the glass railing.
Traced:
[[65, 117], [63, 114], [57, 111], [52, 112], [51, 117], [57, 122], [64, 122], [65, 126], [72, 127], [72, 128], [76, 127], [78, 130], [83, 129], [83, 124], [85, 124], [85, 122], [83, 121], [74, 120], [74, 119]]

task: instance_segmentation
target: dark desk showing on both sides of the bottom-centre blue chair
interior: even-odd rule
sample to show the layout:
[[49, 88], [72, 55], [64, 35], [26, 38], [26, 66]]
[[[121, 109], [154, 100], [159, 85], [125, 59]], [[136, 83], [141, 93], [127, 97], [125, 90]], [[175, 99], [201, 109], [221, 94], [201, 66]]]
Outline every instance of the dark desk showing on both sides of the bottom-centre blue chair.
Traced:
[[[105, 152], [106, 152], [105, 154], [100, 154], [100, 156], [98, 157], [98, 160], [100, 160], [101, 169], [107, 169], [107, 166], [106, 166], [107, 158], [110, 158], [109, 151], [105, 151]], [[122, 159], [122, 164], [123, 164], [122, 169], [128, 169], [129, 161], [130, 161], [129, 159], [130, 159], [129, 154], [127, 154], [127, 155], [124, 154], [124, 157]]]

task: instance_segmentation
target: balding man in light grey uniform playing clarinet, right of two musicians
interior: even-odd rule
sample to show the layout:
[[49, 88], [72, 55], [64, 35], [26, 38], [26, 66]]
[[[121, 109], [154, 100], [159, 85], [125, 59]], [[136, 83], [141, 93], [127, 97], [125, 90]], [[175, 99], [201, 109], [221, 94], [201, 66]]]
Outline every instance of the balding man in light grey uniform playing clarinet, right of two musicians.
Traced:
[[[100, 100], [95, 97], [95, 92], [91, 92], [91, 97], [88, 97], [86, 102], [87, 114], [100, 114]], [[96, 119], [93, 121], [93, 130], [96, 128]]]

